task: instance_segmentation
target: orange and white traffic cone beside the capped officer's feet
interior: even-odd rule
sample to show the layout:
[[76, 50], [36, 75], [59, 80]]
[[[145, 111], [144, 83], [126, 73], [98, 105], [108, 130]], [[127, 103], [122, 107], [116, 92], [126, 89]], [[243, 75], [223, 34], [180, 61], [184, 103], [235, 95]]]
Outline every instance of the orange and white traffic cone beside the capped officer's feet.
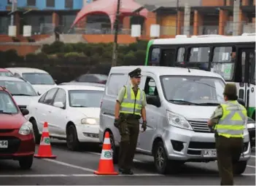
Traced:
[[98, 171], [94, 171], [94, 174], [97, 174], [97, 175], [117, 175], [118, 174], [114, 169], [109, 132], [106, 132], [105, 134], [104, 143], [101, 151], [101, 159], [98, 164]]

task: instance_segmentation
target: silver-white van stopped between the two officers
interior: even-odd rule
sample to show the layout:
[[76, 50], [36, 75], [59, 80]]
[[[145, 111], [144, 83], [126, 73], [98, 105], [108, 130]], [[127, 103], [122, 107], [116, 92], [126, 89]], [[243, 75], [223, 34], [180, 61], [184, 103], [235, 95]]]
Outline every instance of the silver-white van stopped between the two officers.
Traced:
[[[117, 163], [120, 143], [114, 126], [117, 93], [130, 83], [128, 73], [136, 68], [141, 68], [139, 87], [147, 97], [147, 130], [139, 134], [137, 151], [154, 156], [160, 174], [175, 172], [185, 162], [215, 161], [214, 132], [209, 130], [207, 121], [217, 105], [224, 102], [223, 78], [217, 73], [189, 68], [120, 66], [110, 70], [100, 115], [99, 137], [103, 142], [104, 133], [110, 133], [114, 162]], [[250, 153], [249, 133], [245, 129], [244, 153], [234, 167], [236, 174], [244, 172]]]

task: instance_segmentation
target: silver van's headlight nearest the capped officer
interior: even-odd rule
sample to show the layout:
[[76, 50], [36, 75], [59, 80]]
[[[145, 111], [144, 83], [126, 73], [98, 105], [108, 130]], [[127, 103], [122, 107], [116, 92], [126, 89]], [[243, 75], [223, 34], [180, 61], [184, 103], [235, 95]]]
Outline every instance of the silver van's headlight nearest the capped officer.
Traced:
[[192, 127], [190, 126], [190, 123], [186, 120], [186, 118], [180, 116], [177, 113], [172, 113], [167, 110], [167, 119], [171, 126], [176, 126], [187, 130], [193, 130]]

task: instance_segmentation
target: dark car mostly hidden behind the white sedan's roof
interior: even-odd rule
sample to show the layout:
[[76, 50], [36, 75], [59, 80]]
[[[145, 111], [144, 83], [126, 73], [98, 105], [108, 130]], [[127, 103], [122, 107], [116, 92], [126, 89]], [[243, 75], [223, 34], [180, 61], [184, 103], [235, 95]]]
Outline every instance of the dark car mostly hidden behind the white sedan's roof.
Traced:
[[76, 78], [75, 82], [88, 82], [88, 83], [98, 83], [98, 84], [106, 84], [107, 76], [104, 74], [97, 73], [88, 73], [83, 74]]

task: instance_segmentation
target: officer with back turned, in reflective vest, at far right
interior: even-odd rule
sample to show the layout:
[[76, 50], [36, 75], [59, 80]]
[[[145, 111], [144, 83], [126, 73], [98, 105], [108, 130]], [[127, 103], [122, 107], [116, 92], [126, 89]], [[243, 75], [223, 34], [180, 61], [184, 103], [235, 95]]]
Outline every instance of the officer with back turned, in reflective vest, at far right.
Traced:
[[233, 185], [233, 166], [242, 153], [247, 110], [237, 102], [236, 84], [226, 84], [223, 95], [225, 103], [214, 111], [208, 126], [215, 132], [220, 185]]

